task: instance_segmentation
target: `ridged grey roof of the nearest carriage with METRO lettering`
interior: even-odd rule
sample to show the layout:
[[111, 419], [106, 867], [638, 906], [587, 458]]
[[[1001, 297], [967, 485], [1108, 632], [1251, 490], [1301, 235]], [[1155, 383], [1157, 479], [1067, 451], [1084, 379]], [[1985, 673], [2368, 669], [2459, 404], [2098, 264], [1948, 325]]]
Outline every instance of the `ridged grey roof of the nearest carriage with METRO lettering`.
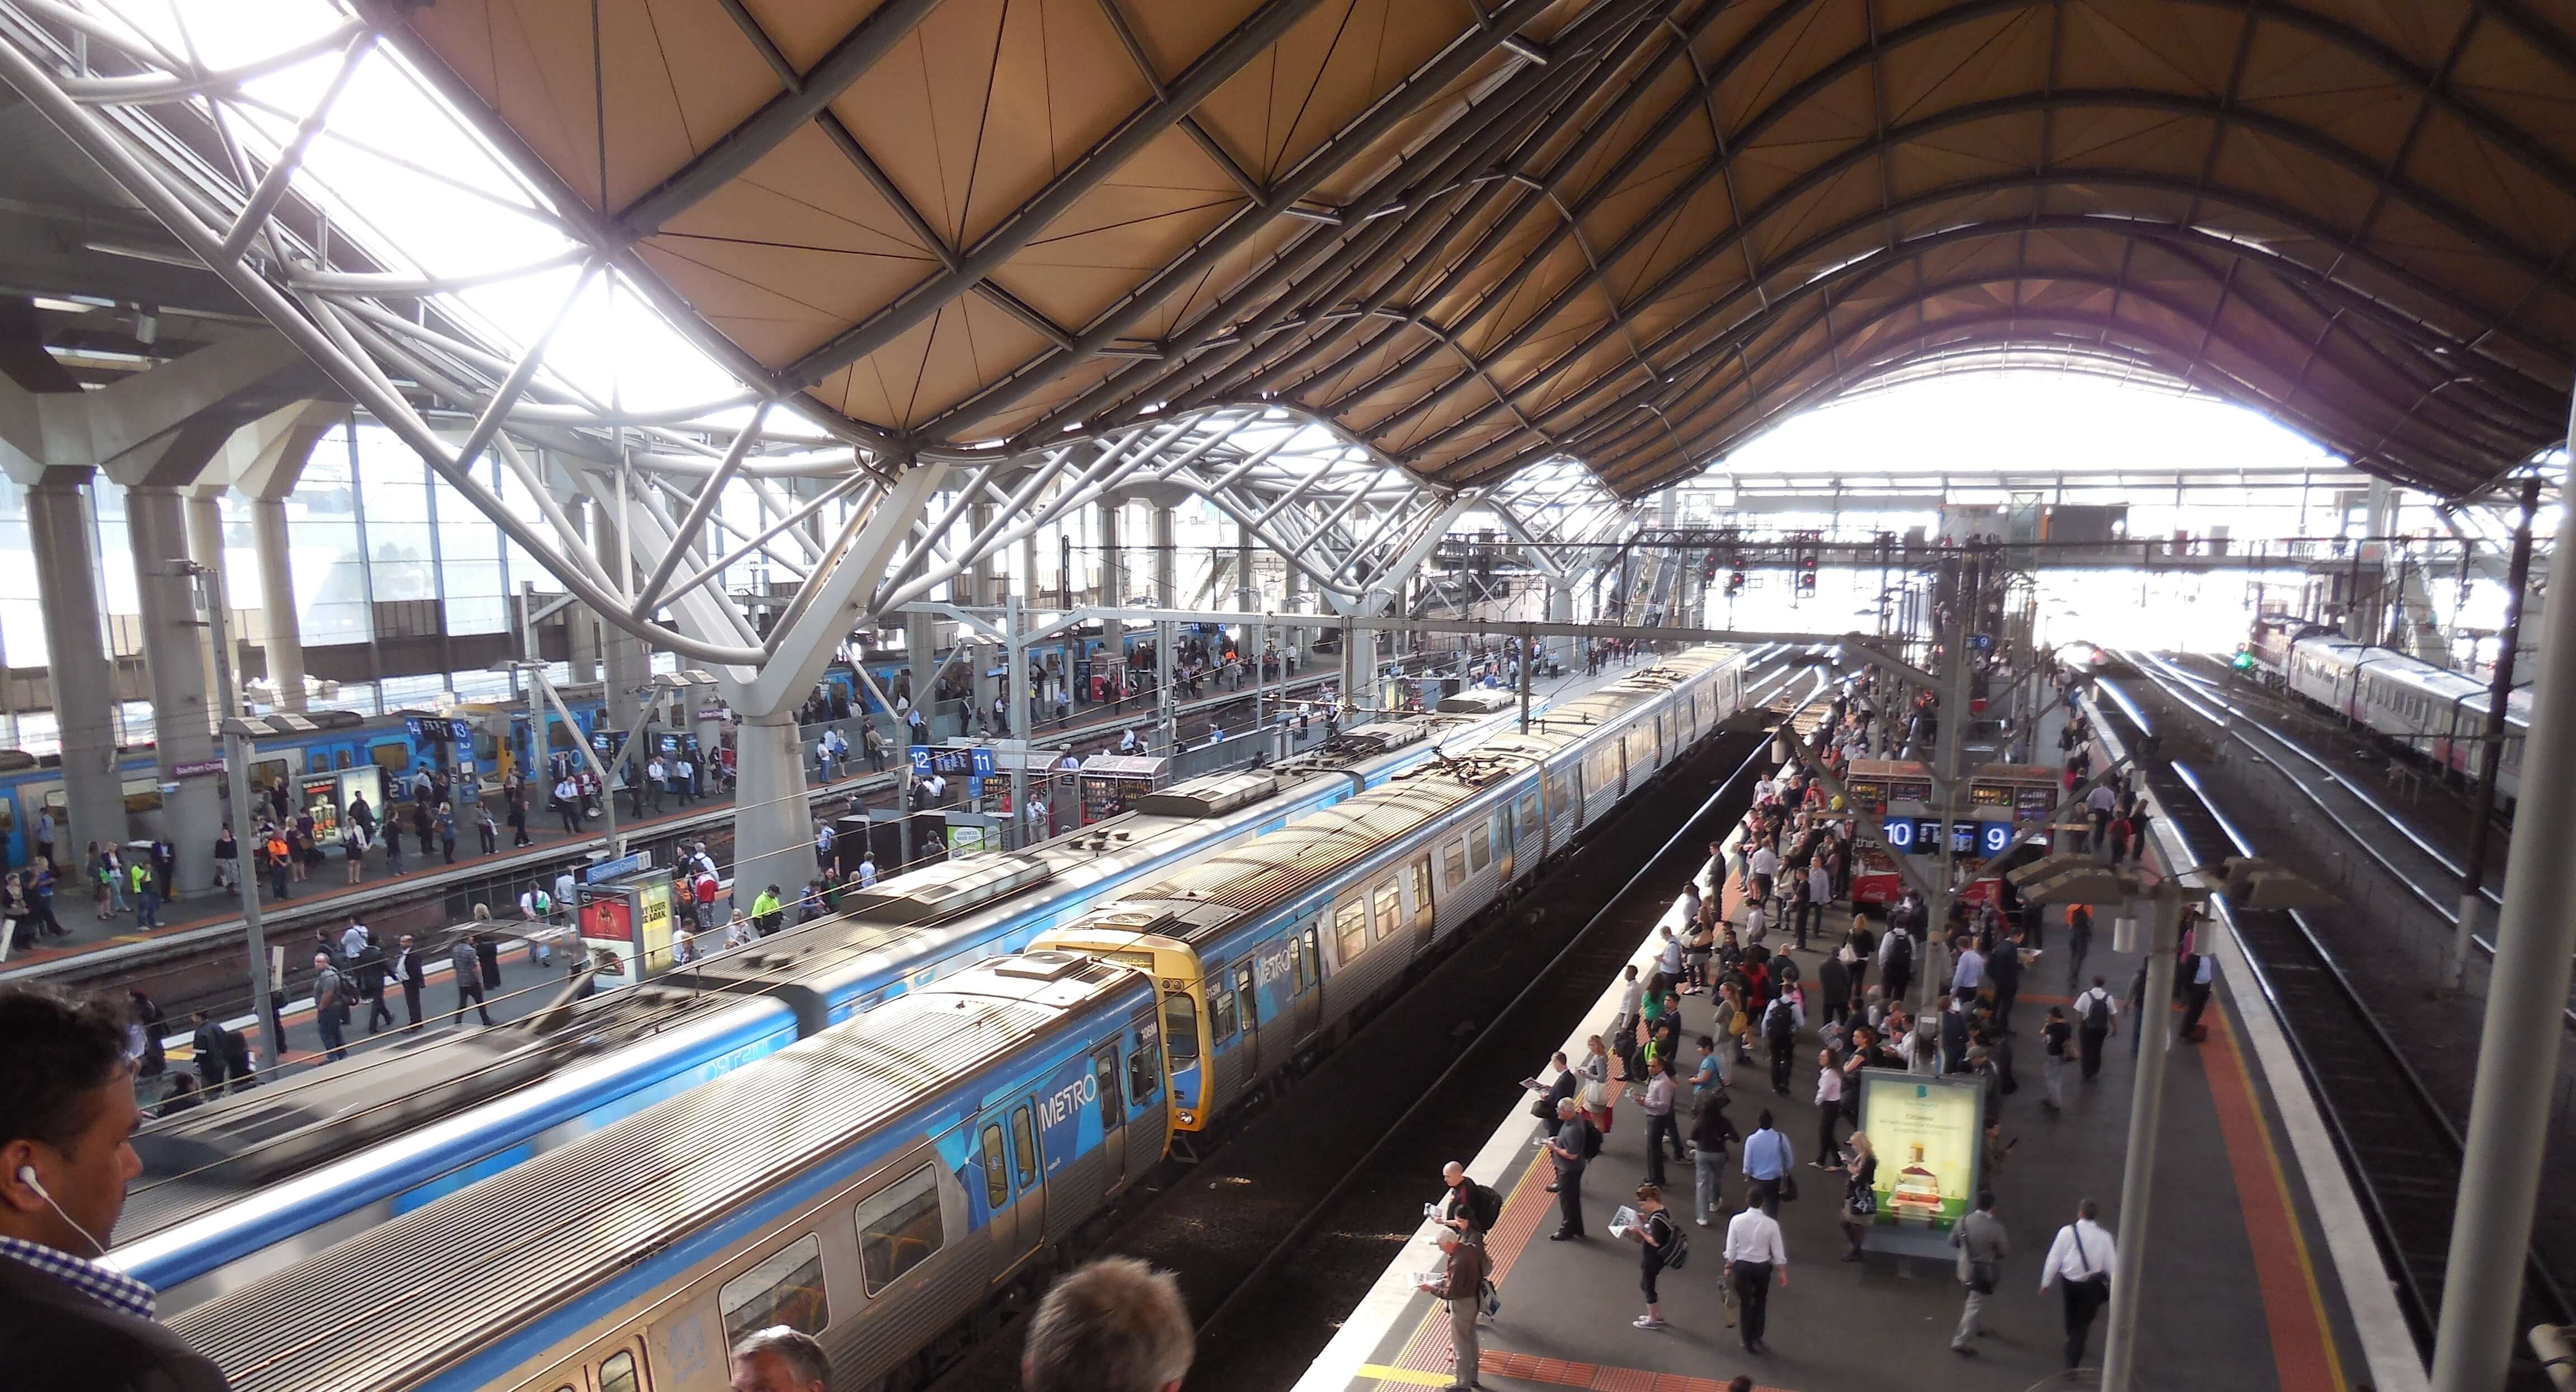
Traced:
[[654, 1103], [425, 1209], [374, 1227], [170, 1328], [234, 1387], [337, 1392], [420, 1384], [487, 1353], [533, 1312], [773, 1196], [829, 1155], [884, 1163], [940, 1126], [948, 1093], [994, 1059], [1141, 985], [1090, 964], [1015, 982], [981, 964], [768, 1059]]

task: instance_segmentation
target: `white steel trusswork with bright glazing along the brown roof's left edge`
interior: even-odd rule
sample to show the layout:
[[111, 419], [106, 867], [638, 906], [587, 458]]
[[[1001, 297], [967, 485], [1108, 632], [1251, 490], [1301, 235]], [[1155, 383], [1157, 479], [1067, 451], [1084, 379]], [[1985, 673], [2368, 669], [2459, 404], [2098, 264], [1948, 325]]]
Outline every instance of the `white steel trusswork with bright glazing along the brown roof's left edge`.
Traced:
[[[178, 8], [0, 0], [0, 80], [574, 598], [716, 668], [747, 709], [793, 701], [853, 624], [933, 598], [979, 557], [1100, 500], [1203, 498], [1337, 614], [1383, 614], [1476, 508], [1556, 583], [1631, 526], [1582, 464], [1448, 490], [1265, 400], [1074, 430], [1023, 454], [909, 449], [827, 425], [765, 394], [768, 374], [739, 348], [654, 302], [667, 291], [631, 273], [631, 247], [500, 155], [482, 147], [489, 168], [459, 175], [335, 124], [366, 72], [410, 82], [422, 111], [456, 121], [453, 142], [477, 147], [381, 41], [371, 5], [322, 13], [301, 31], [281, 26], [265, 52], [209, 59], [211, 36], [191, 34]], [[415, 255], [386, 232], [384, 196], [350, 193], [371, 180], [505, 224], [515, 258], [453, 268]], [[629, 400], [613, 371], [564, 348], [577, 322], [592, 338], [600, 322], [611, 338], [621, 325], [665, 335], [670, 356], [703, 369], [680, 374], [696, 389]], [[538, 516], [513, 510], [482, 461], [523, 485]], [[744, 523], [729, 498], [750, 498], [760, 521]], [[616, 528], [608, 559], [580, 508]], [[989, 521], [969, 521], [979, 516]], [[755, 557], [793, 583], [768, 632], [724, 588]]]

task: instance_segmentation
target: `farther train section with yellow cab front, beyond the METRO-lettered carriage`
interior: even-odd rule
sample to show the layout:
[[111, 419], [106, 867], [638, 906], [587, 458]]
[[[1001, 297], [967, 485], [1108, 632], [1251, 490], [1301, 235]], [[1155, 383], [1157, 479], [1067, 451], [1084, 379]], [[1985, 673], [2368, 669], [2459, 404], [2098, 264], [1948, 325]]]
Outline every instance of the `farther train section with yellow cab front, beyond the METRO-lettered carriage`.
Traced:
[[1139, 887], [1036, 946], [1154, 974], [1175, 1134], [1337, 1041], [1406, 967], [1716, 732], [1744, 655], [1695, 647], [1285, 830]]

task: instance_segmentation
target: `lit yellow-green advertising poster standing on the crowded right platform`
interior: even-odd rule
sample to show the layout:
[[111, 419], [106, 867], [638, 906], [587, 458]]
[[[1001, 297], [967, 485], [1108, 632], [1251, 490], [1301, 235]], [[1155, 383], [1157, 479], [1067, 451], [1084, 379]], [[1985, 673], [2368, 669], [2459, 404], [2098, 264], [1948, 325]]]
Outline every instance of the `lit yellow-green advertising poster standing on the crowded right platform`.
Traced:
[[1973, 1078], [1860, 1075], [1860, 1129], [1878, 1152], [1870, 1248], [1947, 1253], [1950, 1224], [1976, 1201], [1984, 1098]]

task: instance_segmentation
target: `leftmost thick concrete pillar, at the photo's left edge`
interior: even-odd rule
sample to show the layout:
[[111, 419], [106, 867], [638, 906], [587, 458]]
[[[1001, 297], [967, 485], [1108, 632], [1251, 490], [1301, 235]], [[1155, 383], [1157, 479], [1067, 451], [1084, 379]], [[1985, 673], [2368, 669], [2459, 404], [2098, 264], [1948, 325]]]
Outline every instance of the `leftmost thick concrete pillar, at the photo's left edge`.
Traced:
[[108, 668], [98, 562], [90, 554], [98, 528], [82, 492], [90, 477], [90, 469], [46, 469], [26, 490], [54, 717], [62, 724], [62, 797], [72, 822], [54, 838], [54, 853], [75, 866], [88, 843], [126, 840], [126, 789], [116, 776], [116, 673]]

